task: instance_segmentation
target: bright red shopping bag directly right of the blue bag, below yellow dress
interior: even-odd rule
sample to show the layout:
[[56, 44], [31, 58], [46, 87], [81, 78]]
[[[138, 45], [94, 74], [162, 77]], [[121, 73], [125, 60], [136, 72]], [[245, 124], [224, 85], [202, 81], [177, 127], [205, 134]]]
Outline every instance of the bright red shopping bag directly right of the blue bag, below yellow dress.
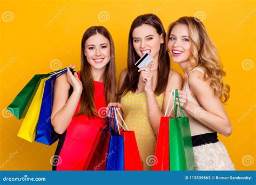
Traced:
[[134, 131], [122, 130], [120, 134], [124, 137], [124, 170], [143, 170]]

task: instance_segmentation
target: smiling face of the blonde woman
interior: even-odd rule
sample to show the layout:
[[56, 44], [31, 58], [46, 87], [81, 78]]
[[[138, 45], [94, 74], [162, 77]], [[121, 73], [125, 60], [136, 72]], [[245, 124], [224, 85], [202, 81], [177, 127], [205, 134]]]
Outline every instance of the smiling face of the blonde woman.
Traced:
[[189, 60], [191, 51], [187, 25], [177, 24], [173, 27], [169, 36], [168, 49], [171, 52], [172, 61], [175, 63]]

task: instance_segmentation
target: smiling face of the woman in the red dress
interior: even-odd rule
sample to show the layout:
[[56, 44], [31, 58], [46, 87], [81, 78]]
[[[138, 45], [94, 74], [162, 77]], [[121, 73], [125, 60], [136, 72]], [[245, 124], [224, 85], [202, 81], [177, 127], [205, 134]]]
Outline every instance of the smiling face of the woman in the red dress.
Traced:
[[92, 68], [102, 69], [110, 60], [110, 42], [103, 35], [97, 33], [85, 42], [84, 54]]

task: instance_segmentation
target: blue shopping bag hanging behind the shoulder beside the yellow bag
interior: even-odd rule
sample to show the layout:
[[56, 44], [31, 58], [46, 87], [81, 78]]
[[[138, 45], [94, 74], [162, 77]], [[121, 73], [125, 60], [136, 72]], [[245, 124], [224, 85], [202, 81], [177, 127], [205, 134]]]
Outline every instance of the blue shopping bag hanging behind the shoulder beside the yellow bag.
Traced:
[[[70, 68], [70, 71], [73, 71], [73, 69]], [[54, 131], [53, 126], [51, 125], [53, 88], [56, 78], [65, 72], [67, 72], [66, 68], [62, 71], [52, 74], [51, 78], [45, 81], [42, 105], [37, 123], [35, 138], [35, 141], [45, 145], [52, 145], [52, 143], [58, 140], [58, 134]]]

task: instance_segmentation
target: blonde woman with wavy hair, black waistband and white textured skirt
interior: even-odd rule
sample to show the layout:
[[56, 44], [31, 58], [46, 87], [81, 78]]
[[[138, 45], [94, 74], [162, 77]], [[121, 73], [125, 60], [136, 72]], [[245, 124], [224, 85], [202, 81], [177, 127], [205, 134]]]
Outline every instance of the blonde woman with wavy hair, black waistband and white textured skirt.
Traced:
[[216, 47], [195, 17], [173, 22], [167, 38], [172, 60], [180, 64], [185, 74], [179, 98], [190, 120], [196, 170], [234, 170], [217, 137], [217, 133], [229, 136], [232, 126], [223, 107], [230, 86], [223, 83], [225, 72]]

